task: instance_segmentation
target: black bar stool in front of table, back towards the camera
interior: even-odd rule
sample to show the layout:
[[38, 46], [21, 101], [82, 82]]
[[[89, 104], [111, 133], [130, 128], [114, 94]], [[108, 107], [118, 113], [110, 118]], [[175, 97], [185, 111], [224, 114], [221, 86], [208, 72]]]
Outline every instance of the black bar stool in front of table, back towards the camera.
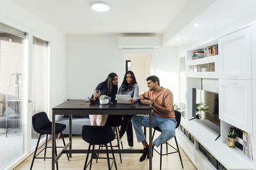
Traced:
[[[108, 169], [110, 170], [113, 166], [113, 163], [114, 163], [115, 164], [115, 169], [117, 170], [115, 155], [114, 155], [113, 147], [112, 147], [112, 144], [111, 144], [111, 141], [113, 141], [115, 139], [115, 136], [114, 136], [113, 131], [112, 131], [110, 126], [84, 125], [83, 126], [83, 132], [82, 132], [82, 138], [83, 138], [84, 141], [89, 143], [88, 152], [87, 152], [86, 160], [85, 160], [85, 163], [84, 163], [84, 170], [86, 169], [86, 167], [88, 167], [89, 163], [90, 163], [90, 169], [92, 168], [92, 159], [93, 159], [93, 152], [94, 152], [94, 146], [95, 145], [105, 145], [106, 146], [106, 152], [107, 152], [107, 158], [103, 158], [103, 157], [98, 156], [97, 159], [98, 158], [99, 159], [108, 159]], [[110, 144], [113, 158], [109, 158], [108, 143]], [[91, 146], [92, 146], [92, 155], [91, 155], [90, 161], [88, 162], [88, 157], [89, 157]], [[110, 167], [109, 159], [113, 159], [111, 167]], [[87, 162], [88, 162], [88, 164], [87, 164]]]

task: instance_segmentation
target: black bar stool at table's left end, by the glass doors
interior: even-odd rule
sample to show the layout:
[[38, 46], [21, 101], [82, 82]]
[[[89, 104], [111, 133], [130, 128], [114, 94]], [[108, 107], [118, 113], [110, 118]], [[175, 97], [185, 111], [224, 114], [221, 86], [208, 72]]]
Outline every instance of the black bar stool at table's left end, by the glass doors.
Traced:
[[[33, 156], [33, 160], [32, 160], [30, 169], [32, 169], [35, 159], [44, 159], [44, 160], [45, 159], [52, 159], [51, 157], [45, 157], [47, 148], [51, 148], [51, 146], [47, 146], [47, 139], [48, 139], [48, 134], [52, 134], [52, 122], [47, 117], [47, 114], [43, 111], [43, 112], [36, 113], [35, 115], [33, 115], [32, 125], [33, 125], [34, 130], [36, 132], [38, 132], [38, 134], [40, 134], [40, 136], [39, 136], [37, 144], [36, 144], [36, 150], [35, 150], [35, 153], [34, 153], [34, 156]], [[65, 147], [66, 144], [65, 144], [65, 140], [63, 138], [62, 131], [66, 128], [66, 125], [65, 124], [55, 124], [55, 127], [56, 127], [55, 128], [55, 133], [56, 134], [61, 133], [63, 145]], [[40, 138], [44, 134], [46, 134], [45, 147], [44, 147], [43, 150], [41, 150], [37, 154], [37, 155], [39, 155], [42, 151], [44, 151], [44, 157], [37, 157], [36, 151], [38, 149]], [[55, 155], [57, 156], [57, 149], [56, 148], [63, 148], [63, 147], [62, 146], [56, 147], [56, 142], [55, 142]], [[67, 158], [69, 160], [68, 153], [67, 153]], [[58, 169], [58, 162], [56, 162], [56, 168]]]

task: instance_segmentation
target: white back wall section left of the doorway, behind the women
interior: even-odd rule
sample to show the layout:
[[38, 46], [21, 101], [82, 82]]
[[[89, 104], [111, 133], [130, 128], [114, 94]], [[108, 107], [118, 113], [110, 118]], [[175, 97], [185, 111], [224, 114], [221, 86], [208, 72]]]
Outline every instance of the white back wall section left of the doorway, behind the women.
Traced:
[[117, 36], [67, 36], [67, 98], [91, 97], [98, 83], [111, 72], [118, 74], [120, 84], [123, 60], [117, 50]]

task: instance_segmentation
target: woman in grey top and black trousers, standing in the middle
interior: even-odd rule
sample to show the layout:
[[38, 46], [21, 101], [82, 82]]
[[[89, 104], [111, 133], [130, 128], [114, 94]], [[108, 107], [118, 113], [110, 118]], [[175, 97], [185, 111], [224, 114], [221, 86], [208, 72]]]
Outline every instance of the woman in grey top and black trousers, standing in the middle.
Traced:
[[[139, 86], [137, 84], [136, 78], [132, 71], [127, 71], [124, 75], [124, 81], [118, 90], [118, 94], [129, 94], [131, 95], [131, 99], [129, 101], [131, 104], [138, 100], [139, 96]], [[132, 119], [133, 115], [123, 115], [122, 125], [120, 129], [120, 134], [118, 136], [118, 140], [122, 140], [122, 136], [126, 131], [127, 134], [127, 141], [128, 141], [128, 148], [133, 147], [133, 132], [132, 132]], [[116, 141], [116, 145], [118, 145]]]

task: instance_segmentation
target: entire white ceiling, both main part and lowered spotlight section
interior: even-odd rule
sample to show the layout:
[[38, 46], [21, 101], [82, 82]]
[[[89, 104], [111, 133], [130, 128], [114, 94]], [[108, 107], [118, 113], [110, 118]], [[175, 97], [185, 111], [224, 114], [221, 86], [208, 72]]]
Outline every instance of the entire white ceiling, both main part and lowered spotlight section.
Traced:
[[106, 13], [91, 10], [96, 0], [13, 1], [65, 34], [163, 34], [164, 45], [193, 43], [256, 14], [256, 0], [101, 0]]

